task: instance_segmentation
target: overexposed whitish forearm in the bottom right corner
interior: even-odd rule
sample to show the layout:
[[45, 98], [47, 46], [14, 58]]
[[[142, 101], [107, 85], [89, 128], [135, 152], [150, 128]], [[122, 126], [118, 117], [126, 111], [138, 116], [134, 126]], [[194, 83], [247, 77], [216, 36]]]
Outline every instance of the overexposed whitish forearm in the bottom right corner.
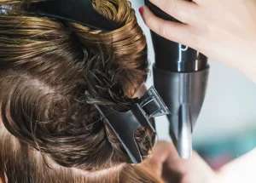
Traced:
[[256, 181], [255, 169], [256, 149], [220, 169], [216, 183], [254, 183]]

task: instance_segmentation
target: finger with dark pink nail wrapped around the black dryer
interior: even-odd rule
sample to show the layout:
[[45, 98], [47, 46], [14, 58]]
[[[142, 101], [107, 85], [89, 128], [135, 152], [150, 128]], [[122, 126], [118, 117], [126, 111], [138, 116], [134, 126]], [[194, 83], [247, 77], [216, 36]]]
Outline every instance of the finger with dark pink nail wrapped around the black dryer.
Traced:
[[161, 37], [187, 46], [194, 42], [188, 25], [162, 20], [156, 17], [146, 6], [143, 7], [142, 16], [148, 28]]

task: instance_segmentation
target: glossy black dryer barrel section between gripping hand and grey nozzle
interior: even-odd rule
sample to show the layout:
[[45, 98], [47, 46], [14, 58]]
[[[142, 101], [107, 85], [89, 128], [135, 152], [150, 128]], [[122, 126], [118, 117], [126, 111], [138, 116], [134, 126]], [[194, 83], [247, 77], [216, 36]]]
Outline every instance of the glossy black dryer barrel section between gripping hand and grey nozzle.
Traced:
[[195, 49], [174, 43], [151, 32], [155, 67], [174, 72], [194, 72], [207, 68], [207, 57]]

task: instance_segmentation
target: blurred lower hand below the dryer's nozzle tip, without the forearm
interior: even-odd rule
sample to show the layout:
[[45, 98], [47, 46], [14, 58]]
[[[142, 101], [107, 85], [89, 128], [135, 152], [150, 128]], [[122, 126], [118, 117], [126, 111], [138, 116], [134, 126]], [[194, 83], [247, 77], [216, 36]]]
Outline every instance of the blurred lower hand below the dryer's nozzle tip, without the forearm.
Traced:
[[172, 183], [215, 183], [217, 174], [194, 152], [193, 158], [181, 159], [172, 143], [160, 141], [147, 163], [158, 176]]

